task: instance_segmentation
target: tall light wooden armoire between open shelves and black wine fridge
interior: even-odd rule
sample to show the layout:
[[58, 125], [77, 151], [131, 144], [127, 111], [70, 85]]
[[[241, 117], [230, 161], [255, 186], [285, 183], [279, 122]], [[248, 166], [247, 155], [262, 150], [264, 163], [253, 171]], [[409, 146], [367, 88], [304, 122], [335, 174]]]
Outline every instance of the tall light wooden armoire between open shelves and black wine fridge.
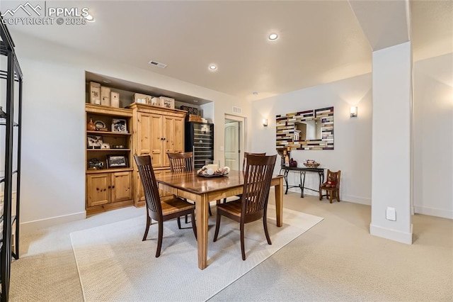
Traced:
[[[132, 109], [132, 154], [150, 155], [156, 175], [169, 173], [167, 152], [184, 152], [186, 111], [137, 103], [127, 108]], [[144, 194], [135, 162], [133, 177], [137, 184], [134, 189], [134, 205], [142, 206]], [[162, 191], [161, 197], [164, 196], [166, 194]]]

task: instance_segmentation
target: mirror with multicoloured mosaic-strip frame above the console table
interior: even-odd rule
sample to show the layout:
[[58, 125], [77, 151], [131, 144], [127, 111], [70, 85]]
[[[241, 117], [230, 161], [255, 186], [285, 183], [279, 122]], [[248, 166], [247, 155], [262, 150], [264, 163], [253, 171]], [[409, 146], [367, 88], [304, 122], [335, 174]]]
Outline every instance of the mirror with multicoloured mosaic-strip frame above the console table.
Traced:
[[333, 150], [333, 107], [276, 116], [277, 150]]

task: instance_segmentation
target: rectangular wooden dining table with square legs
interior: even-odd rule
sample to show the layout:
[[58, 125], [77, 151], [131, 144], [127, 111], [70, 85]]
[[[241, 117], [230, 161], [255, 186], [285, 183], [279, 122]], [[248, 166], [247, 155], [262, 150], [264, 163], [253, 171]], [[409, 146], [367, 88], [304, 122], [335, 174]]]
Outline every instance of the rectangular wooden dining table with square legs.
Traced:
[[[196, 171], [156, 175], [159, 189], [195, 202], [197, 225], [198, 268], [207, 267], [207, 220], [210, 201], [242, 194], [243, 172], [230, 171], [223, 177], [200, 177]], [[277, 226], [283, 224], [283, 175], [274, 175], [270, 186], [275, 186]]]

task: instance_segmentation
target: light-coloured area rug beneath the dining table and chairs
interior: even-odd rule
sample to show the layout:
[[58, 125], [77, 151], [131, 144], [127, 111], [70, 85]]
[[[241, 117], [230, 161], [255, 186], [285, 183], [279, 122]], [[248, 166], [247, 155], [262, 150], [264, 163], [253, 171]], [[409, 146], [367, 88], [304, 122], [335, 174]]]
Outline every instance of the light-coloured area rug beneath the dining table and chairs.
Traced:
[[285, 208], [283, 226], [277, 228], [275, 208], [269, 206], [268, 212], [273, 244], [265, 240], [262, 220], [248, 223], [246, 261], [241, 258], [239, 223], [222, 217], [219, 237], [212, 242], [215, 216], [211, 216], [204, 270], [198, 269], [192, 229], [179, 230], [176, 220], [164, 223], [159, 258], [157, 225], [151, 225], [148, 240], [142, 242], [144, 216], [71, 233], [84, 300], [206, 301], [323, 220]]

